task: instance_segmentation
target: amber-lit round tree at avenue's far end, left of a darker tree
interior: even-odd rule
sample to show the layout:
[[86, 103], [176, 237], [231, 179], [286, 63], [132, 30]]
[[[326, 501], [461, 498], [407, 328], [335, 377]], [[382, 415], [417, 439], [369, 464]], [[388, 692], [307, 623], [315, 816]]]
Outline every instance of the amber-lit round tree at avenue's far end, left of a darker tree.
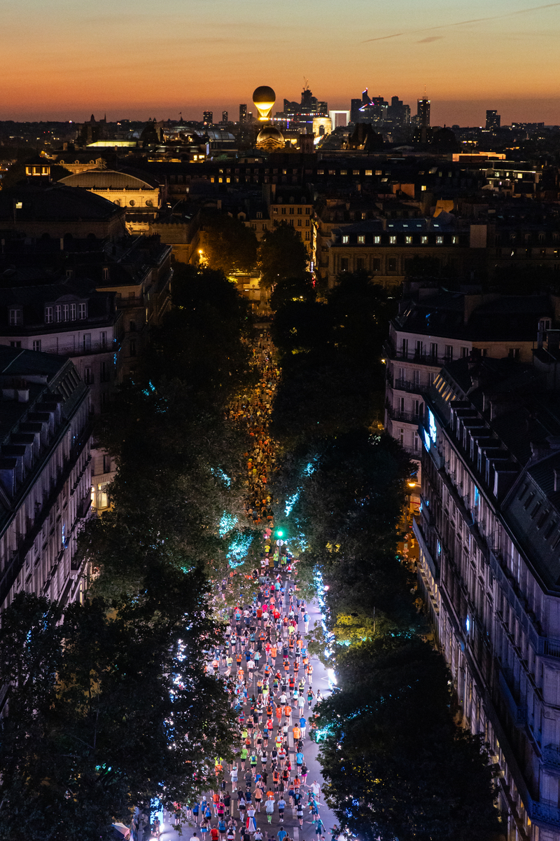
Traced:
[[202, 226], [204, 257], [209, 267], [225, 274], [254, 269], [258, 242], [252, 228], [225, 213], [206, 214]]

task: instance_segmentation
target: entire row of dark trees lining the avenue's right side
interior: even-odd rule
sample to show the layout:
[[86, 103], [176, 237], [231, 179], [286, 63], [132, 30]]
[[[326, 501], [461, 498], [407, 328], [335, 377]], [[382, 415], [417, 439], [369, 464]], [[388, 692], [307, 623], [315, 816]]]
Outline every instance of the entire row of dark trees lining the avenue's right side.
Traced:
[[302, 578], [324, 601], [310, 648], [338, 676], [317, 722], [327, 801], [370, 841], [489, 838], [500, 817], [488, 755], [454, 721], [451, 676], [397, 551], [411, 463], [372, 424], [390, 299], [364, 275], [341, 276], [322, 301], [298, 283], [273, 295], [274, 489]]

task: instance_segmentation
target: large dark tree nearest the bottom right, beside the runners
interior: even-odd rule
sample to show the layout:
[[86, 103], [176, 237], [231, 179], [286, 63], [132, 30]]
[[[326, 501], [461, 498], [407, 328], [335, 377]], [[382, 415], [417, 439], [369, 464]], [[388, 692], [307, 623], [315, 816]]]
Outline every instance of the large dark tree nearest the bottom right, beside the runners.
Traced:
[[[338, 647], [339, 648], [339, 647]], [[441, 656], [411, 634], [342, 649], [317, 722], [327, 802], [364, 841], [470, 841], [500, 829], [479, 737], [458, 730]]]

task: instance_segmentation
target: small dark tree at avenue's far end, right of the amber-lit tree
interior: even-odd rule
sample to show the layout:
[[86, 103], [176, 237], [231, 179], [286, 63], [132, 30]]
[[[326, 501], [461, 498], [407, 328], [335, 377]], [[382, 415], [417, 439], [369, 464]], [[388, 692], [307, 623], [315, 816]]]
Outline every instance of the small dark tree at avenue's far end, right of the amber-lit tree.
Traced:
[[304, 278], [309, 255], [297, 230], [282, 222], [267, 230], [259, 248], [261, 286], [270, 288], [285, 278]]

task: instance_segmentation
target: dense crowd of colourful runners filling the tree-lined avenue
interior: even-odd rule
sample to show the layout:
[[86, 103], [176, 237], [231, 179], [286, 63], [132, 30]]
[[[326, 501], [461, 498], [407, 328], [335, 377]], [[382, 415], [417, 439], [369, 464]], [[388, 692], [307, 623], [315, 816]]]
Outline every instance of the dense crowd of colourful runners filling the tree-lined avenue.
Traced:
[[[207, 668], [229, 681], [238, 715], [236, 759], [216, 759], [217, 789], [181, 810], [193, 828], [190, 841], [322, 841], [321, 787], [308, 780], [306, 745], [315, 724], [313, 666], [306, 648], [309, 613], [296, 587], [297, 560], [275, 537], [267, 489], [275, 468], [268, 426], [280, 376], [268, 332], [254, 344], [259, 383], [230, 410], [246, 422], [252, 447], [246, 453], [247, 516], [264, 523], [259, 587], [250, 603], [224, 607], [223, 645], [208, 652]], [[159, 836], [156, 822], [154, 834]], [[291, 838], [290, 838], [291, 833]], [[338, 837], [332, 827], [329, 838]]]

